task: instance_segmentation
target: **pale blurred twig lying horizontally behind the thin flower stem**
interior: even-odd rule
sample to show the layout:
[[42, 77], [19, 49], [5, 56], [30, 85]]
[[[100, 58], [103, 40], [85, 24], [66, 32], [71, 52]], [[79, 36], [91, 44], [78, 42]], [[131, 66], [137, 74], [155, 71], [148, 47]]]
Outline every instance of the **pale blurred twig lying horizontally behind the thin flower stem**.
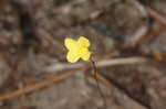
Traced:
[[[144, 57], [125, 57], [125, 58], [111, 58], [105, 61], [96, 62], [96, 67], [106, 67], [106, 66], [114, 66], [114, 65], [124, 65], [124, 64], [136, 64], [136, 63], [144, 63], [147, 62]], [[44, 67], [43, 70], [48, 73], [55, 73], [60, 70], [68, 70], [83, 67], [83, 63], [79, 64], [63, 64], [63, 63], [54, 63], [48, 67]]]

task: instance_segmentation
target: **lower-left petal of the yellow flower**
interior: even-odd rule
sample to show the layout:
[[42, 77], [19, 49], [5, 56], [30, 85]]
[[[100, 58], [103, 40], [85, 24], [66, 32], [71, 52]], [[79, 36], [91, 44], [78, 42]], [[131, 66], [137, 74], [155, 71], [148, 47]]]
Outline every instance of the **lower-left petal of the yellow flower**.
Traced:
[[66, 54], [66, 59], [68, 62], [71, 62], [71, 63], [75, 63], [77, 62], [80, 58], [80, 55], [77, 55], [75, 52], [73, 51], [70, 51], [68, 54]]

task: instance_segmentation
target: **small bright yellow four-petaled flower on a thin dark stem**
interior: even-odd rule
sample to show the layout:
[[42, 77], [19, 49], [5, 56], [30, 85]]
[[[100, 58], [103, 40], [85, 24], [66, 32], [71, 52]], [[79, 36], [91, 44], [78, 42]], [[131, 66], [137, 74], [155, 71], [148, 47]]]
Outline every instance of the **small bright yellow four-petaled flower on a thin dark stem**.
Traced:
[[89, 51], [90, 41], [86, 37], [80, 36], [77, 41], [66, 37], [64, 40], [64, 45], [69, 50], [66, 55], [68, 62], [75, 63], [80, 58], [89, 61], [91, 52]]

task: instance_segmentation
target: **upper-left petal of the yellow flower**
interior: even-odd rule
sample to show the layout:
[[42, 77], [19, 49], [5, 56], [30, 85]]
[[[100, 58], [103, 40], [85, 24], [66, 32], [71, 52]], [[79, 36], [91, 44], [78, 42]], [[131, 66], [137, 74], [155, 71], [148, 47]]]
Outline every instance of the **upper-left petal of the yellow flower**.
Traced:
[[76, 41], [74, 41], [74, 40], [72, 40], [72, 39], [70, 39], [70, 37], [66, 37], [66, 39], [64, 40], [64, 45], [65, 45], [65, 47], [66, 47], [68, 50], [73, 50], [73, 48], [76, 47]]

